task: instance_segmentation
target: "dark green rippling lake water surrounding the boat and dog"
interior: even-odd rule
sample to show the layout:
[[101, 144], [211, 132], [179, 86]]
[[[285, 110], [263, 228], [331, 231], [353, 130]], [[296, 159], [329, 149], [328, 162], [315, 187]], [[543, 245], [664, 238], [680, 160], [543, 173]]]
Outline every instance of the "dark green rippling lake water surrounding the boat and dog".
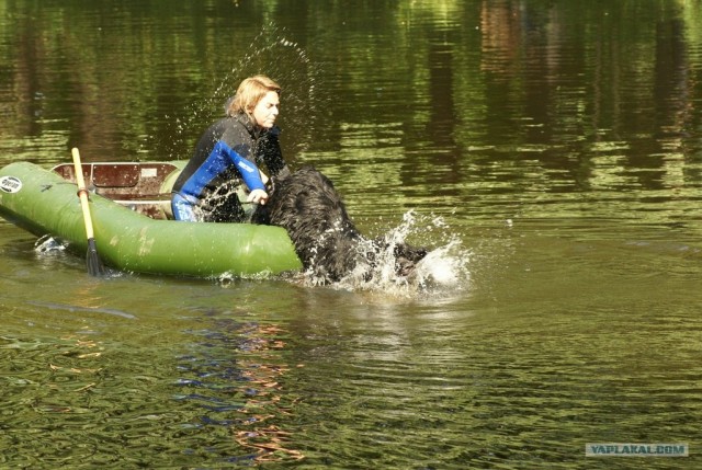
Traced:
[[257, 72], [449, 282], [93, 279], [0, 221], [1, 468], [700, 467], [699, 0], [0, 0], [0, 164], [185, 159]]

